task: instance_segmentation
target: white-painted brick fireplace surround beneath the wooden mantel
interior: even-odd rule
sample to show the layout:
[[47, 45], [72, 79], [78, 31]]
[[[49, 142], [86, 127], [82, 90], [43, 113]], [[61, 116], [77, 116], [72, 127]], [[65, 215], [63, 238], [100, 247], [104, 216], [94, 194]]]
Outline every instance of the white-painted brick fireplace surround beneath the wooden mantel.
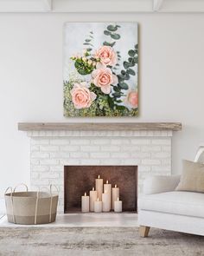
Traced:
[[[21, 128], [20, 128], [21, 129]], [[25, 129], [24, 129], [25, 130]], [[138, 166], [138, 193], [148, 175], [171, 174], [172, 130], [31, 130], [31, 187], [60, 188], [64, 210], [64, 166]]]

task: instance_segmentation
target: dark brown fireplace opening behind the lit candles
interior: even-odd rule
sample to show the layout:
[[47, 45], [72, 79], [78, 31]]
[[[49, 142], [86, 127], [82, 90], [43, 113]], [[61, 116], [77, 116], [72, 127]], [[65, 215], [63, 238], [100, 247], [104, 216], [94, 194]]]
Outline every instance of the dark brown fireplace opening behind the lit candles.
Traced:
[[119, 187], [123, 212], [137, 213], [137, 166], [65, 166], [64, 213], [81, 212], [81, 196], [95, 187], [98, 176]]

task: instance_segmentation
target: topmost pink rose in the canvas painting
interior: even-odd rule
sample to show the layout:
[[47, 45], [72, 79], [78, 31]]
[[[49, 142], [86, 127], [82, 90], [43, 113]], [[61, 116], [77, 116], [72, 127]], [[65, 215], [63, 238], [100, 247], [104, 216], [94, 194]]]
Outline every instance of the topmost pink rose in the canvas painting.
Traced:
[[102, 46], [96, 51], [95, 57], [105, 66], [115, 66], [117, 63], [117, 54], [111, 46]]

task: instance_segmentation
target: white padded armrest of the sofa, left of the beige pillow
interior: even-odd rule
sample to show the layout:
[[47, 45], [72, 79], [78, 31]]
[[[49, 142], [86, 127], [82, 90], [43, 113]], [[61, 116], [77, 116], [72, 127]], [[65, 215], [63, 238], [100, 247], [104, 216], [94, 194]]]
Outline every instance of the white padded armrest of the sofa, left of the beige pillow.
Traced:
[[180, 181], [180, 175], [151, 176], [143, 183], [143, 194], [159, 194], [174, 191]]

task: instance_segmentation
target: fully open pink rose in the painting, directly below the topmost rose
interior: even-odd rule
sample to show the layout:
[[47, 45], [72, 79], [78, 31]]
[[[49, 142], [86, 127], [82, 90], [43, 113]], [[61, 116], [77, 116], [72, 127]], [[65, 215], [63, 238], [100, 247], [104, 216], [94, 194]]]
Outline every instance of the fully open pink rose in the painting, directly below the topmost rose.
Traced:
[[111, 93], [111, 84], [118, 83], [118, 77], [112, 74], [112, 69], [101, 68], [92, 71], [92, 83], [99, 87], [106, 95]]

